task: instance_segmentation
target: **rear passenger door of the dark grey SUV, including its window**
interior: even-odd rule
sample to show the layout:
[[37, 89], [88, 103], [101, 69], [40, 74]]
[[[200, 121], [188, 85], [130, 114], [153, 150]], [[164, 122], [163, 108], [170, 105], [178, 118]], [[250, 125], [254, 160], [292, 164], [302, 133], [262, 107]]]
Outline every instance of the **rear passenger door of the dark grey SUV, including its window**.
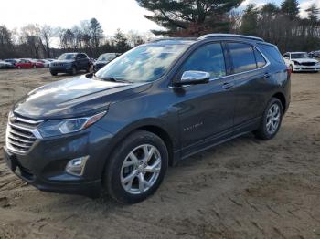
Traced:
[[228, 42], [234, 79], [234, 130], [251, 130], [260, 121], [270, 78], [269, 64], [261, 52], [249, 43]]

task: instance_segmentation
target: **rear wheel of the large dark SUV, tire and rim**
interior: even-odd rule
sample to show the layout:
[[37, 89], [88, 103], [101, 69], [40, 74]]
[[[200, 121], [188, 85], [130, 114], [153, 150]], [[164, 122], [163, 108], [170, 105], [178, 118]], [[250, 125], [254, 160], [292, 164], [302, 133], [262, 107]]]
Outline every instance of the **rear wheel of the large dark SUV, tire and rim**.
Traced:
[[272, 98], [263, 112], [261, 125], [254, 131], [260, 140], [271, 140], [279, 131], [283, 121], [283, 104], [277, 98]]

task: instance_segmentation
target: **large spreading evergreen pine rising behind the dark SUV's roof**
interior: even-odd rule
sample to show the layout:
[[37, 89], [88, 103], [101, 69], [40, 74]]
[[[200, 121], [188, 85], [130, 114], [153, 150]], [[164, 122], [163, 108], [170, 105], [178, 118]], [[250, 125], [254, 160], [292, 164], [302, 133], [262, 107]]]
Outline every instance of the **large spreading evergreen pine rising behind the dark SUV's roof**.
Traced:
[[138, 5], [153, 12], [145, 16], [165, 30], [155, 35], [199, 36], [207, 32], [229, 31], [231, 9], [243, 0], [136, 0]]

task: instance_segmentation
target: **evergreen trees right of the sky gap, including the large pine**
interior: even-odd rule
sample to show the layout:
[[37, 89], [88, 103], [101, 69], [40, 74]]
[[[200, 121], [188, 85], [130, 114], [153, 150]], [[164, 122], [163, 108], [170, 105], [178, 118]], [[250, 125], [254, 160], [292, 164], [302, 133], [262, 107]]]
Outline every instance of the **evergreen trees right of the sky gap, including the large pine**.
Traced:
[[[260, 36], [285, 51], [320, 49], [319, 8], [315, 3], [300, 16], [297, 0], [283, 0], [278, 6], [247, 5], [240, 11], [243, 0], [136, 0], [152, 12], [145, 16], [163, 30], [155, 35], [201, 36], [208, 33], [233, 33]], [[311, 2], [311, 1], [310, 1]]]

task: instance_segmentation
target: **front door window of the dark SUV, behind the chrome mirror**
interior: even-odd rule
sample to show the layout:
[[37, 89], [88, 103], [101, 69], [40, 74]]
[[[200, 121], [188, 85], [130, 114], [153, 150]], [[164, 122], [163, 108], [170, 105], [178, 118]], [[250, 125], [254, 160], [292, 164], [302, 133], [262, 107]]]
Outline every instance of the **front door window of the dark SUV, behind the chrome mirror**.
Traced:
[[226, 65], [221, 45], [213, 43], [198, 48], [187, 58], [181, 73], [187, 70], [206, 71], [210, 73], [211, 78], [225, 76]]

